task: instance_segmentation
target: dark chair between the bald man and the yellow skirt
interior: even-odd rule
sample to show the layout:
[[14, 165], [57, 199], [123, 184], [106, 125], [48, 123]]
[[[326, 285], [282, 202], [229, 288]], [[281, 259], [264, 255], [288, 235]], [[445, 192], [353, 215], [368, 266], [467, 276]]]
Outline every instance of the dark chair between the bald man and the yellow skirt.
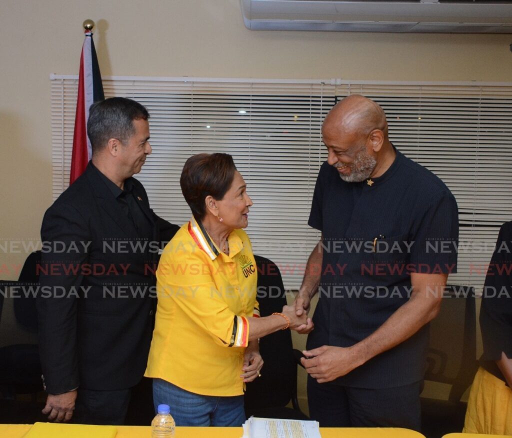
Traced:
[[447, 400], [420, 399], [422, 433], [427, 438], [462, 431], [467, 403], [461, 397], [478, 368], [475, 289], [449, 285], [444, 297], [430, 324], [425, 380], [452, 386]]

